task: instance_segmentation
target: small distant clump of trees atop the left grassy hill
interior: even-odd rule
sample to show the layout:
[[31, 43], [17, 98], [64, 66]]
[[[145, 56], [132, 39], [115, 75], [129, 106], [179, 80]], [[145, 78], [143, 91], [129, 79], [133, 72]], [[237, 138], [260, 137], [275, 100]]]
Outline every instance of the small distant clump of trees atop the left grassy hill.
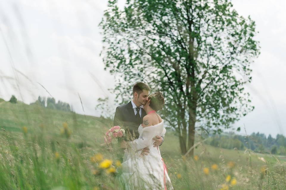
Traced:
[[56, 103], [56, 100], [52, 97], [48, 97], [46, 99], [46, 97], [39, 96], [38, 99], [35, 102], [32, 102], [30, 105], [33, 105], [33, 104], [37, 104], [42, 107], [46, 107], [46, 108], [50, 108], [54, 110], [62, 110], [62, 111], [67, 111], [67, 112], [71, 111], [71, 107], [68, 103], [62, 102], [60, 100]]

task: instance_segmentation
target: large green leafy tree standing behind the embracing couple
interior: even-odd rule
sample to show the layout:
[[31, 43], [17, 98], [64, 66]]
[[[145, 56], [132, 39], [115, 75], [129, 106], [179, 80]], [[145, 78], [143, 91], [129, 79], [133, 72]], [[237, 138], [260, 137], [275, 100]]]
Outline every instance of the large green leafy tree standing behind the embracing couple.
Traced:
[[243, 86], [259, 55], [257, 32], [230, 0], [127, 0], [124, 9], [110, 0], [100, 26], [117, 98], [130, 99], [136, 81], [162, 91], [183, 154], [196, 129], [220, 132], [253, 109]]

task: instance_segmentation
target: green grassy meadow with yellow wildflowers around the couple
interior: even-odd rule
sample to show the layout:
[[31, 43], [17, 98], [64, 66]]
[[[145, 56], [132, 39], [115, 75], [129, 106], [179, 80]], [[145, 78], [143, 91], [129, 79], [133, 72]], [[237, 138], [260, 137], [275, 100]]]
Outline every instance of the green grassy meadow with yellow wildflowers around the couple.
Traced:
[[[119, 189], [116, 151], [101, 145], [110, 126], [104, 118], [0, 99], [0, 189]], [[283, 157], [202, 143], [186, 158], [173, 132], [160, 149], [174, 189], [286, 189]]]

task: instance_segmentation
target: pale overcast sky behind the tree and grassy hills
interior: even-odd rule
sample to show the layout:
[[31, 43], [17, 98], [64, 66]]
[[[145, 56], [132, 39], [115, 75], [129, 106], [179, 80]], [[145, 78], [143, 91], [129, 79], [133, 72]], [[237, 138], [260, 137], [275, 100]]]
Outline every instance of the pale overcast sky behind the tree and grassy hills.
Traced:
[[[107, 0], [98, 2], [1, 0], [0, 98], [9, 100], [15, 94], [30, 103], [49, 92], [83, 113], [79, 94], [85, 114], [98, 115], [97, 99], [114, 98], [108, 91], [114, 87], [114, 77], [104, 71], [99, 55], [98, 24]], [[119, 5], [123, 7], [124, 2], [119, 0]], [[234, 126], [245, 125], [248, 134], [285, 135], [286, 1], [232, 2], [240, 15], [256, 21], [261, 46], [261, 55], [252, 66], [253, 81], [246, 87], [255, 110]]]

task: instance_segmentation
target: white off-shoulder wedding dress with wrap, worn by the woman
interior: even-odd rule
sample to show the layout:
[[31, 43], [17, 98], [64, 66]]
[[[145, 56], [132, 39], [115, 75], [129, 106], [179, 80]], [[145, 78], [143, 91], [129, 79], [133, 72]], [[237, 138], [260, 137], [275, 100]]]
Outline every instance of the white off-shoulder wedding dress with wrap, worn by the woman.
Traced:
[[[153, 147], [156, 135], [164, 136], [164, 120], [156, 125], [138, 128], [139, 138], [129, 142], [125, 151], [120, 180], [124, 189], [173, 189], [167, 168], [161, 157], [159, 147]], [[142, 149], [150, 148], [148, 155], [141, 155]]]

